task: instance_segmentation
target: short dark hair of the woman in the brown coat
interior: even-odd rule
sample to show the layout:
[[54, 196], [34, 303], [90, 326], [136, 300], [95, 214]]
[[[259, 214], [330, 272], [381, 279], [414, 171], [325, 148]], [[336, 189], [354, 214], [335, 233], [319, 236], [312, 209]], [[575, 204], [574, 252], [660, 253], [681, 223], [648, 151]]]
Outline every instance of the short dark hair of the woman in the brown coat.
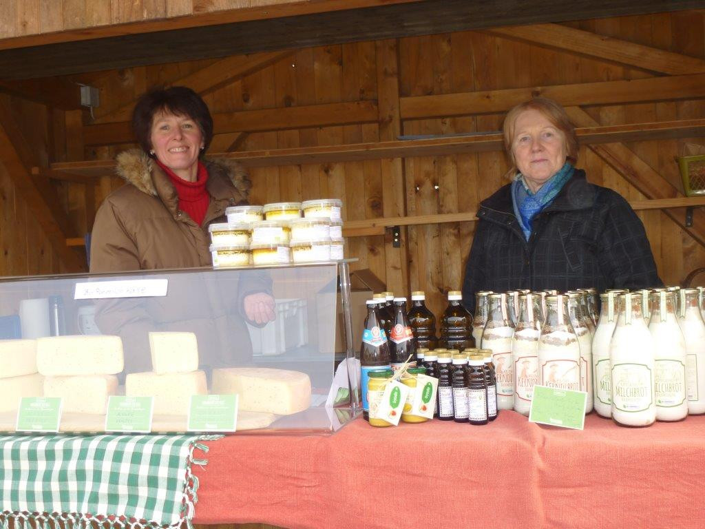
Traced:
[[142, 150], [152, 150], [152, 120], [157, 112], [188, 116], [198, 123], [203, 135], [204, 154], [213, 139], [213, 118], [200, 95], [186, 86], [159, 87], [140, 97], [133, 111], [133, 132]]

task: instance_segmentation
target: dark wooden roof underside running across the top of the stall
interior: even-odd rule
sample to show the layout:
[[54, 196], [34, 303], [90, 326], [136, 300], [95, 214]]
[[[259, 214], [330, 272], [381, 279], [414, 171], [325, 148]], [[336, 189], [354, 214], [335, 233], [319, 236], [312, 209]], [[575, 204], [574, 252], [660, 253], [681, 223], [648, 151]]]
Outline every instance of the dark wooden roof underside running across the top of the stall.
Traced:
[[[702, 0], [422, 0], [4, 49], [0, 51], [0, 80], [702, 7]], [[164, 26], [168, 27], [168, 21]], [[101, 35], [100, 29], [92, 30], [92, 34]]]

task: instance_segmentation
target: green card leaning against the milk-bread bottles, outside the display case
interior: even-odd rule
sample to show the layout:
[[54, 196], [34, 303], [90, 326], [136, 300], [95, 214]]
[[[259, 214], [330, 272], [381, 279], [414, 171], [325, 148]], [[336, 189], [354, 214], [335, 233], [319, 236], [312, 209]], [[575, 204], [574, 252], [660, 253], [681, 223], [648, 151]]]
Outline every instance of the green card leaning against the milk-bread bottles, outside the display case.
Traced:
[[529, 421], [582, 430], [586, 403], [585, 391], [534, 386]]

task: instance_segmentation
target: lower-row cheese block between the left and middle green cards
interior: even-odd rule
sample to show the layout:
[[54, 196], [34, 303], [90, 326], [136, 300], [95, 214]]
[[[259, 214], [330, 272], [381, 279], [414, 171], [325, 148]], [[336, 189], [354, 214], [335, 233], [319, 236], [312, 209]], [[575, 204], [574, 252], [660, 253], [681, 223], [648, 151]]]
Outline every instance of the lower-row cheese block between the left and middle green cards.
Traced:
[[68, 413], [105, 415], [108, 397], [117, 390], [115, 375], [44, 377], [44, 396], [61, 397], [61, 409]]

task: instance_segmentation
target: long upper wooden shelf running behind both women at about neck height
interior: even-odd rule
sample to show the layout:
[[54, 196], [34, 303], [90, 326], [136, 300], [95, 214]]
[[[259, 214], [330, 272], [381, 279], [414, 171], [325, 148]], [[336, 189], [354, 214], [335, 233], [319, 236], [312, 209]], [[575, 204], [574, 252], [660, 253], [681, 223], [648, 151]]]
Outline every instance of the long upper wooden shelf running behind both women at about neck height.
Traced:
[[[662, 121], [657, 123], [630, 123], [613, 126], [587, 126], [576, 129], [578, 140], [584, 145], [692, 138], [705, 135], [705, 119]], [[225, 136], [225, 135], [223, 135]], [[217, 138], [217, 136], [216, 136]], [[231, 137], [235, 140], [235, 137]], [[230, 139], [228, 138], [228, 140]], [[298, 164], [326, 164], [330, 162], [359, 162], [371, 159], [394, 159], [420, 156], [442, 156], [504, 150], [500, 133], [483, 133], [466, 136], [394, 140], [348, 145], [322, 145], [242, 152], [216, 152], [212, 157], [234, 158], [250, 167], [271, 167]], [[94, 160], [88, 162], [61, 162], [51, 164], [56, 171], [85, 176], [109, 176], [115, 162]]]

